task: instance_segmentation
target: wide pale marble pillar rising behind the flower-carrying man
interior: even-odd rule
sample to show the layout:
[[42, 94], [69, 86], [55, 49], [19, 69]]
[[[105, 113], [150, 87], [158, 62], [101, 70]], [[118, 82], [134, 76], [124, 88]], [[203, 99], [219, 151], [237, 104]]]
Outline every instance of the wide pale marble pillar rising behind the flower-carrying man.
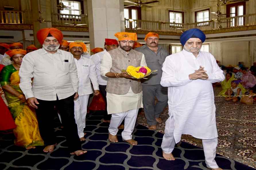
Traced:
[[90, 47], [102, 48], [105, 38], [116, 39], [116, 32], [125, 31], [123, 0], [87, 0]]

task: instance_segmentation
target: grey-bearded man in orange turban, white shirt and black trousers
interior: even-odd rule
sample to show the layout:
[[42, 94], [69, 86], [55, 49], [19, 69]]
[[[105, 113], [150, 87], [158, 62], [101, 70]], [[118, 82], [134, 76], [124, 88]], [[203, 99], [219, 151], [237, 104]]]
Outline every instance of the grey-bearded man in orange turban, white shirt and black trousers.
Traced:
[[[71, 155], [82, 155], [74, 118], [74, 100], [78, 98], [77, 68], [69, 52], [59, 50], [63, 34], [56, 28], [37, 32], [43, 48], [28, 53], [20, 68], [20, 88], [30, 106], [36, 108], [44, 152], [52, 152], [56, 145], [54, 134], [54, 106], [60, 110], [64, 133]], [[33, 82], [32, 82], [33, 78]]]

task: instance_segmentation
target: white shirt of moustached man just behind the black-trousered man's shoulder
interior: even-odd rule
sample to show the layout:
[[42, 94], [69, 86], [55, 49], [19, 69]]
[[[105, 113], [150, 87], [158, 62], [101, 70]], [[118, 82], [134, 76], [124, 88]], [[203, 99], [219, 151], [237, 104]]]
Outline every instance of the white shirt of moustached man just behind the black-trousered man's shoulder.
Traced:
[[94, 90], [99, 90], [95, 64], [93, 61], [86, 57], [81, 57], [79, 60], [74, 58], [74, 61], [77, 67], [77, 75], [79, 79], [79, 96], [92, 94], [93, 91], [90, 80], [92, 81]]

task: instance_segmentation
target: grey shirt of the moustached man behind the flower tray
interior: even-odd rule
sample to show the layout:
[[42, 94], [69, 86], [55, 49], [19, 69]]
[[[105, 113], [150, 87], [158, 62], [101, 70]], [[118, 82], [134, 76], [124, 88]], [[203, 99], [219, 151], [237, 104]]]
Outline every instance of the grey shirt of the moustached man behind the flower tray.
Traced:
[[144, 54], [147, 66], [151, 70], [158, 70], [157, 72], [154, 72], [148, 76], [148, 79], [141, 79], [141, 85], [160, 84], [162, 77], [162, 66], [165, 58], [169, 56], [169, 53], [161, 46], [158, 46], [157, 53], [155, 53], [154, 51], [150, 50], [146, 44], [139, 48], [135, 48], [135, 50]]

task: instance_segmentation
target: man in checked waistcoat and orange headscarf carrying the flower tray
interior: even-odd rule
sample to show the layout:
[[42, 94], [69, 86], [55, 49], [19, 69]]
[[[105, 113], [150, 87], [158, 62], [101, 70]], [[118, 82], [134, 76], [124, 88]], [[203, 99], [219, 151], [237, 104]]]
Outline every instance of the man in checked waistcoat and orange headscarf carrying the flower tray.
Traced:
[[132, 49], [137, 40], [136, 33], [118, 32], [119, 47], [105, 52], [101, 61], [101, 75], [108, 78], [106, 86], [107, 111], [112, 114], [108, 128], [110, 142], [118, 142], [118, 127], [125, 120], [123, 141], [137, 145], [132, 139], [137, 113], [142, 105], [141, 82], [133, 79], [122, 70], [129, 65], [134, 67], [147, 66], [144, 55]]

